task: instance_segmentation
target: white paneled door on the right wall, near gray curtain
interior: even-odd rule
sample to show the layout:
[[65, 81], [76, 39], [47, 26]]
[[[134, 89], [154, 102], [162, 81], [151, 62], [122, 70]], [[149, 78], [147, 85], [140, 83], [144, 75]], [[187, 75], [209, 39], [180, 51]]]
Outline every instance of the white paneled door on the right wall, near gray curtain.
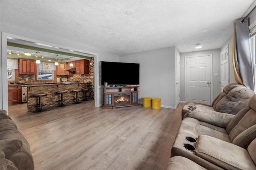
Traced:
[[229, 84], [228, 46], [220, 52], [220, 92]]

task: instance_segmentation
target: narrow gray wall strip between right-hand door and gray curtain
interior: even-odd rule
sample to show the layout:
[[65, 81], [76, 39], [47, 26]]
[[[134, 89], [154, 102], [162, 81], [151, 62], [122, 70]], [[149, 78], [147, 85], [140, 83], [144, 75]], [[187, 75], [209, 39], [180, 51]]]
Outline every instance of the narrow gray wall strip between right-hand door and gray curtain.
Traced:
[[232, 63], [232, 36], [228, 41], [222, 46], [220, 51], [222, 51], [228, 45], [228, 55], [229, 55], [229, 83], [236, 83], [235, 76], [234, 76], [234, 67]]

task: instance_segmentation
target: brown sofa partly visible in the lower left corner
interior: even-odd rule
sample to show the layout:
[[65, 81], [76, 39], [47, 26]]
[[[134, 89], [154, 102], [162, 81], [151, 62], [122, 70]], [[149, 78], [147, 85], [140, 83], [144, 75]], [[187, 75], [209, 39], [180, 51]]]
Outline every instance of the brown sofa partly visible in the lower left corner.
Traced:
[[0, 110], [0, 170], [34, 170], [30, 145], [6, 110]]

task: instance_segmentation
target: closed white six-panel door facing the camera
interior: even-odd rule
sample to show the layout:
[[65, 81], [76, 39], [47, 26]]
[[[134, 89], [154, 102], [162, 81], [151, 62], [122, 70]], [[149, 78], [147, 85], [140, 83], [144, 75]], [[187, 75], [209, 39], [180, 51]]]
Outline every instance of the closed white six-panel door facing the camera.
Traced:
[[212, 55], [186, 57], [186, 101], [211, 104]]

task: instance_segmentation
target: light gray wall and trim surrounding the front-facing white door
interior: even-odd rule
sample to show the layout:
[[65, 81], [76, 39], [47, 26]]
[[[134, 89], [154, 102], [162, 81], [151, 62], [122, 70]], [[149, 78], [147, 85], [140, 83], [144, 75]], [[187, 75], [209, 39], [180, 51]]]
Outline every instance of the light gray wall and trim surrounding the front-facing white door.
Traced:
[[180, 53], [180, 100], [186, 102], [185, 98], [185, 57], [194, 55], [212, 54], [213, 75], [218, 73], [218, 76], [213, 76], [211, 83], [213, 86], [213, 99], [220, 94], [220, 49], [195, 51], [189, 53]]

